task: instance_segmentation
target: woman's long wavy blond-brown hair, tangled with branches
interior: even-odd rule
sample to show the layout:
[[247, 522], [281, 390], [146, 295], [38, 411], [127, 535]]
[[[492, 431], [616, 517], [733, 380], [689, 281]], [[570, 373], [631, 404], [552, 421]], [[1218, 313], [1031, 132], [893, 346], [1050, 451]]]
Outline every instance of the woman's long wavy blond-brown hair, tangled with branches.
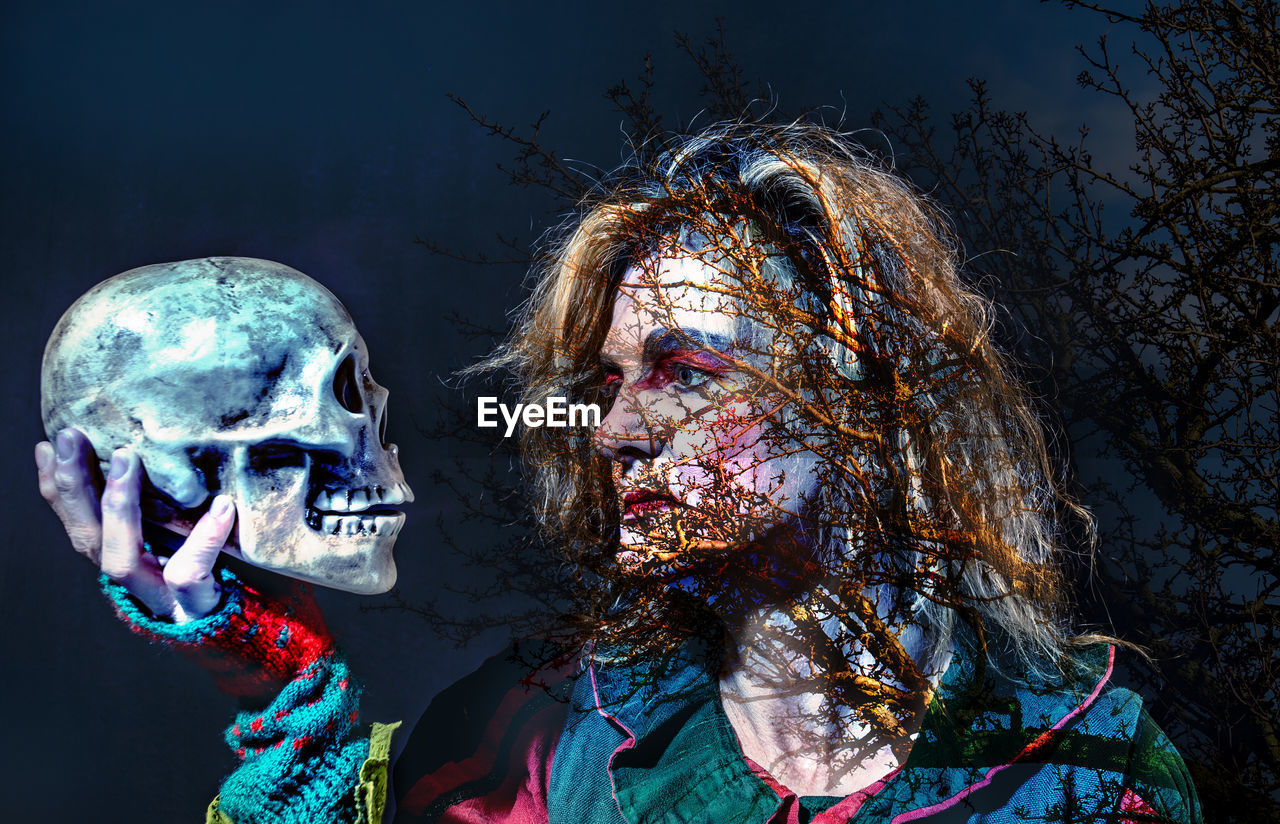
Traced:
[[[773, 340], [763, 377], [788, 399], [778, 426], [827, 456], [813, 517], [842, 618], [874, 633], [883, 615], [865, 594], [892, 583], [932, 659], [963, 622], [995, 660], [1062, 660], [1060, 523], [1092, 535], [1092, 522], [1055, 482], [946, 218], [824, 127], [718, 124], [654, 155], [549, 235], [515, 333], [484, 368], [513, 374], [525, 402], [607, 404], [599, 352], [622, 273], [673, 238], [714, 244]], [[521, 435], [538, 522], [575, 574], [577, 626], [634, 649], [678, 644], [707, 624], [617, 573], [618, 505], [591, 435]]]

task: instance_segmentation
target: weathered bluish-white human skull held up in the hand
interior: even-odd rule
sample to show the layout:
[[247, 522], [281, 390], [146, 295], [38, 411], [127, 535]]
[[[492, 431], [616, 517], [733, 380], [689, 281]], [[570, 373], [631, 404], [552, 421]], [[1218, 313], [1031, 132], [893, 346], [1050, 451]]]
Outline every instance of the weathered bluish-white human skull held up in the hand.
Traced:
[[393, 507], [413, 494], [384, 443], [387, 390], [347, 310], [297, 270], [209, 257], [97, 284], [45, 348], [41, 409], [104, 466], [137, 450], [152, 523], [188, 534], [225, 493], [232, 554], [351, 592], [396, 582]]

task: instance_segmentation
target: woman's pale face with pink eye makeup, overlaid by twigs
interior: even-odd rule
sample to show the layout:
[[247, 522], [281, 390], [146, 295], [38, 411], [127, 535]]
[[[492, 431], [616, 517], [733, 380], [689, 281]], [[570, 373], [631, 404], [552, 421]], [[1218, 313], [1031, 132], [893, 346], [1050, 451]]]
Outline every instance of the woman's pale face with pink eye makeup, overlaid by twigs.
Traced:
[[668, 250], [627, 269], [614, 299], [600, 358], [616, 397], [595, 439], [613, 462], [623, 566], [790, 554], [803, 534], [819, 463], [783, 434], [768, 307], [746, 308], [731, 269]]

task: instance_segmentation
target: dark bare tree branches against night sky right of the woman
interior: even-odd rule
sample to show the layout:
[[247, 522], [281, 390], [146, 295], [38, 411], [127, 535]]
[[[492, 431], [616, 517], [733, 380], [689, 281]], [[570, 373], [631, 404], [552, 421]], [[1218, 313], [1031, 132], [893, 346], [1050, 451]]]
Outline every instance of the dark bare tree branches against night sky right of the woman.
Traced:
[[[998, 109], [982, 82], [936, 131], [923, 101], [881, 128], [952, 206], [1102, 518], [1084, 608], [1143, 645], [1135, 674], [1211, 820], [1271, 820], [1280, 793], [1280, 8], [1128, 14], [1080, 84], [1132, 119], [1100, 165]], [[1117, 42], [1120, 44], [1117, 46]], [[1155, 92], [1135, 87], [1155, 86]]]

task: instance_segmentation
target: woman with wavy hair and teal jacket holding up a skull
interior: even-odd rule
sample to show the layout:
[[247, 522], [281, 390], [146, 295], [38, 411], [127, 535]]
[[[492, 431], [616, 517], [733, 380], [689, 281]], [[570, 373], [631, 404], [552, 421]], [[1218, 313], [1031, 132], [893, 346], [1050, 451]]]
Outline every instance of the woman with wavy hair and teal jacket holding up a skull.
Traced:
[[[573, 609], [556, 644], [433, 702], [399, 818], [1199, 819], [1176, 752], [1108, 686], [1115, 649], [1069, 632], [1059, 519], [1087, 516], [901, 180], [823, 128], [713, 127], [620, 170], [539, 274], [488, 366], [529, 403], [608, 406], [594, 432], [522, 436]], [[128, 563], [141, 541], [105, 502], [136, 508], [131, 471], [102, 509]], [[83, 500], [42, 489], [79, 528]], [[216, 600], [201, 582], [230, 521], [209, 518], [175, 555], [184, 606]], [[109, 591], [141, 631], [252, 649], [236, 615], [279, 610], [224, 581], [196, 632]], [[244, 764], [214, 815], [375, 820], [387, 731], [357, 775], [340, 662], [289, 635], [311, 651], [233, 727]]]

